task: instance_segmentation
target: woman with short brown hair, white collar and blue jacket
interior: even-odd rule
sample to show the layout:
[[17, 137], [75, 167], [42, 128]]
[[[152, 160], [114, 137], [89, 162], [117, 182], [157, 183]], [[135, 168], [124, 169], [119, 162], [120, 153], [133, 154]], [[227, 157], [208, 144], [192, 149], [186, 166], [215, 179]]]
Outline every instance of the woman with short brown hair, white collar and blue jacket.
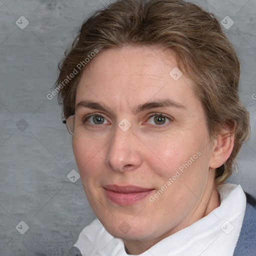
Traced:
[[59, 69], [97, 216], [66, 255], [255, 254], [255, 201], [224, 183], [249, 114], [213, 14], [182, 0], [117, 0], [82, 24]]

